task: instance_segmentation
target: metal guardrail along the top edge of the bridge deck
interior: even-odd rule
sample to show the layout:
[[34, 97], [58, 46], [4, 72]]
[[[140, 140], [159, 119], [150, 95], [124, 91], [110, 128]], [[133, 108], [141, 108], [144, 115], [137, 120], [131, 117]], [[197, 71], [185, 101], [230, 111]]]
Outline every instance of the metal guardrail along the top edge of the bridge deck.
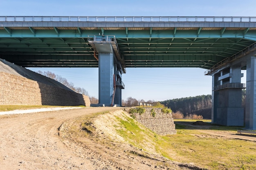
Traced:
[[256, 22], [256, 17], [0, 16], [0, 22]]

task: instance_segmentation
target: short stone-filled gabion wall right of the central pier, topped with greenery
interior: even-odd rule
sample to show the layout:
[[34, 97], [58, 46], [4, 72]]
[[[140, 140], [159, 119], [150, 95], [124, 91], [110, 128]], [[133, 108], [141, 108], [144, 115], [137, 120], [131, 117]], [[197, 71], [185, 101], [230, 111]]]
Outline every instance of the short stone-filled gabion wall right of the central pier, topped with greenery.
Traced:
[[[162, 108], [145, 108], [143, 114], [133, 113], [135, 119], [144, 125], [146, 128], [152, 130], [158, 135], [174, 135], [176, 134], [175, 124], [171, 113], [163, 113]], [[152, 115], [152, 110], [155, 111], [155, 117]], [[129, 113], [129, 110], [127, 110]]]

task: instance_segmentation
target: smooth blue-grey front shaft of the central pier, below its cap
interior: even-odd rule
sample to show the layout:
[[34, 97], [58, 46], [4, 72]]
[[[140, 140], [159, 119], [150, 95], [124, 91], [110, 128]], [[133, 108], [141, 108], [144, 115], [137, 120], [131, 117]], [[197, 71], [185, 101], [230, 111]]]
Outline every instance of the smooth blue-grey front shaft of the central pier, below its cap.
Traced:
[[111, 105], [113, 95], [113, 53], [99, 53], [99, 104]]

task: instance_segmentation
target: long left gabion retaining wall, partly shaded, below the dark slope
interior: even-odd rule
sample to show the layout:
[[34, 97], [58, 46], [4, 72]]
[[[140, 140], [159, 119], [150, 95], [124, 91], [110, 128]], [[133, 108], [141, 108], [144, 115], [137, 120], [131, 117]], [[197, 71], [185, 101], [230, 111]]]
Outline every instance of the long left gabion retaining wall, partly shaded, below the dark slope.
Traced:
[[90, 106], [88, 96], [0, 72], [1, 105]]

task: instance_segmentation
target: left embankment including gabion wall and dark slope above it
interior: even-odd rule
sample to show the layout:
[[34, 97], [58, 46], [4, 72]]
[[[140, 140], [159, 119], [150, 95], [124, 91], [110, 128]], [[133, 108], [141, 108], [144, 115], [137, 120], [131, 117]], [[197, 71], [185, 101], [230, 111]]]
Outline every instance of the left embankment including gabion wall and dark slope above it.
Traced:
[[33, 71], [0, 59], [0, 104], [90, 106], [88, 96]]

